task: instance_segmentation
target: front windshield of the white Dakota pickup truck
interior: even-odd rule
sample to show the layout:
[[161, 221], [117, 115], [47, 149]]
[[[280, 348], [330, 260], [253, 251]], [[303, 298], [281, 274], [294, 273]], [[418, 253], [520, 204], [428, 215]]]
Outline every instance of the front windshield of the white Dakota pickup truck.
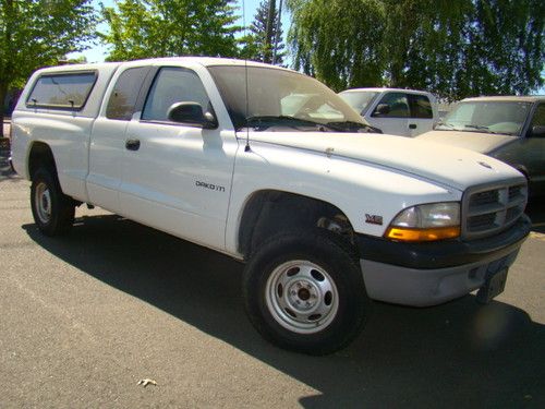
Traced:
[[[337, 94], [310, 76], [264, 67], [209, 67], [237, 130], [246, 125], [322, 127], [352, 131], [366, 122]], [[247, 112], [246, 112], [247, 70]], [[346, 125], [346, 127], [343, 127]]]

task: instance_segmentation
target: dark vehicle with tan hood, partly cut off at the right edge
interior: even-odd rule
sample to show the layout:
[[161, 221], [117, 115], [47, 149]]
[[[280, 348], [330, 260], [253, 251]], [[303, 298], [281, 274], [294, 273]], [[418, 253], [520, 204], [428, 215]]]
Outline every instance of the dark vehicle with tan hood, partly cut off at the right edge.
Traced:
[[545, 196], [545, 96], [467, 98], [417, 137], [500, 159], [528, 178], [532, 196]]

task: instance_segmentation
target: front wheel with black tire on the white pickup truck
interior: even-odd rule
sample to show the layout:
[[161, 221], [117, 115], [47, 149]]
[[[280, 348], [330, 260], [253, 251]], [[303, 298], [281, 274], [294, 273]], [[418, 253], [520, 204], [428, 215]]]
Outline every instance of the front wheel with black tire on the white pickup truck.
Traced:
[[363, 329], [370, 308], [358, 257], [320, 229], [264, 243], [244, 269], [243, 294], [264, 338], [308, 354], [344, 348]]

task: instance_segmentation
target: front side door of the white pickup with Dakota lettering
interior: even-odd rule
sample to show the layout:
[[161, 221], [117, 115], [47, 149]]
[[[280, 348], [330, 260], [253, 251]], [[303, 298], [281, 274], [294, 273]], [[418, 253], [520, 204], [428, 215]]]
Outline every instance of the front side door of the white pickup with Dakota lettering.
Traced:
[[214, 111], [196, 72], [162, 67], [142, 115], [129, 123], [122, 164], [122, 214], [180, 238], [225, 249], [225, 228], [237, 140], [220, 129], [168, 119], [174, 103]]

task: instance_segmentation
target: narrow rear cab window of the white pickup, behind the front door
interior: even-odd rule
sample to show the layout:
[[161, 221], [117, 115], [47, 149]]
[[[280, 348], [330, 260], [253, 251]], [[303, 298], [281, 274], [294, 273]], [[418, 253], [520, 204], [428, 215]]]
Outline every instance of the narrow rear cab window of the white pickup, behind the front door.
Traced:
[[119, 77], [108, 100], [106, 117], [130, 121], [138, 98], [138, 93], [149, 67], [138, 67], [125, 70]]

